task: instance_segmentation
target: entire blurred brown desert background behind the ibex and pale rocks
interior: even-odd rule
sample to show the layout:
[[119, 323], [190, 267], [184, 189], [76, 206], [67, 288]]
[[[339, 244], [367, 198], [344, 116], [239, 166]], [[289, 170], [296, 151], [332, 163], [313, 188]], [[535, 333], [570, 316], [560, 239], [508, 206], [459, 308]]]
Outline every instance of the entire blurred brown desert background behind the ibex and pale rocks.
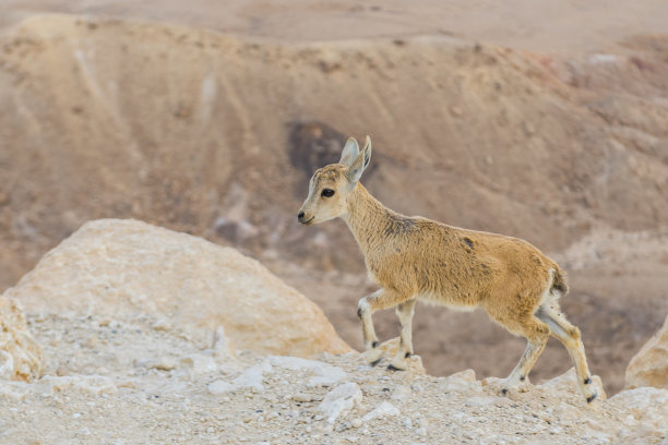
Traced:
[[[84, 221], [231, 245], [361, 346], [345, 224], [300, 227], [318, 167], [370, 134], [385, 205], [527, 239], [609, 394], [668, 311], [668, 2], [0, 0], [0, 290]], [[393, 311], [375, 317], [397, 335]], [[417, 308], [436, 375], [524, 340]], [[550, 340], [535, 383], [571, 366]]]

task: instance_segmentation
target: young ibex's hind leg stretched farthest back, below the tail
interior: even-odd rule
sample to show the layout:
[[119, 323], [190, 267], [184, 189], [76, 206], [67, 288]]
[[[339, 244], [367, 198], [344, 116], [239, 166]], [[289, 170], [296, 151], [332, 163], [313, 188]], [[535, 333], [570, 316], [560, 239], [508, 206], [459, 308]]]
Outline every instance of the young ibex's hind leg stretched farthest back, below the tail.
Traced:
[[573, 326], [566, 317], [559, 312], [559, 306], [554, 303], [549, 305], [544, 304], [538, 308], [536, 316], [550, 327], [550, 334], [561, 341], [569, 351], [569, 356], [571, 356], [573, 364], [575, 365], [577, 387], [587, 399], [587, 402], [591, 402], [598, 394], [592, 384], [592, 374], [587, 365], [584, 345], [580, 337], [580, 329]]

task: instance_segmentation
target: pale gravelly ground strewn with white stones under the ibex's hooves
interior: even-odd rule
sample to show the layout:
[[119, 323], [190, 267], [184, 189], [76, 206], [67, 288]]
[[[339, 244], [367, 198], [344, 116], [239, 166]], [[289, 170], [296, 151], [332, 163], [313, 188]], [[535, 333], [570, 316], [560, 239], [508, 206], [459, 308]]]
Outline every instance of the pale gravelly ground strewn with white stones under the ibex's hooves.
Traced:
[[498, 395], [470, 370], [434, 377], [318, 360], [202, 349], [178, 328], [28, 316], [45, 376], [0, 385], [2, 444], [659, 444], [668, 389], [587, 405], [572, 374]]

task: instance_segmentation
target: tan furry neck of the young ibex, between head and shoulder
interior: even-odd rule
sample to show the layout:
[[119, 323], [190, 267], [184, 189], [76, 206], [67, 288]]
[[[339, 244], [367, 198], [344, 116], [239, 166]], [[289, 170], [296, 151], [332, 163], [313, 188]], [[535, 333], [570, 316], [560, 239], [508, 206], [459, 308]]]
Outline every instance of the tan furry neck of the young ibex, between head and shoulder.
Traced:
[[402, 215], [385, 207], [359, 182], [348, 197], [348, 213], [343, 219], [348, 224], [365, 256], [370, 249], [382, 243], [394, 220]]

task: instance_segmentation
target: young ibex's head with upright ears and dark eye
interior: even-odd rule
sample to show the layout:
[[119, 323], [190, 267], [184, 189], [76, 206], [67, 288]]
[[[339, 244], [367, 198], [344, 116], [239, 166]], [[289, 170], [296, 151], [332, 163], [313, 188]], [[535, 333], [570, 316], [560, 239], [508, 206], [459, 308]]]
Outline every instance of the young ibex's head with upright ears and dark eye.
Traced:
[[371, 139], [362, 151], [354, 137], [344, 146], [338, 164], [318, 169], [309, 182], [309, 196], [306, 199], [297, 219], [310, 226], [334, 219], [348, 212], [347, 200], [355, 190], [362, 171], [371, 160]]

